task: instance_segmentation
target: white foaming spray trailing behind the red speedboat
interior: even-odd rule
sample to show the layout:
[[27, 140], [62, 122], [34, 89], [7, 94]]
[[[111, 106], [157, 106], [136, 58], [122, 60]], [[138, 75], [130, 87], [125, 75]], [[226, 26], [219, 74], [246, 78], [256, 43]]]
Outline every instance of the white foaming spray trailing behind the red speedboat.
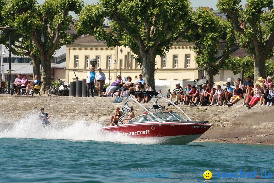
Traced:
[[[3, 121], [3, 119], [0, 121]], [[28, 114], [13, 124], [0, 122], [0, 138], [66, 139], [75, 141], [115, 142], [126, 144], [158, 144], [152, 139], [130, 138], [119, 133], [100, 131], [100, 121], [69, 121], [50, 119], [43, 127], [37, 113]]]

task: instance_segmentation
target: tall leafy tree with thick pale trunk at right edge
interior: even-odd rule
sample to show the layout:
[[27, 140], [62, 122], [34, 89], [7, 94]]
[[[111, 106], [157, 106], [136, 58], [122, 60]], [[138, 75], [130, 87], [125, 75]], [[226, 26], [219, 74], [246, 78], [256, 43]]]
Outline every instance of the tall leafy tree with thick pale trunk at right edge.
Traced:
[[241, 46], [254, 55], [254, 78], [265, 78], [265, 61], [273, 56], [274, 10], [267, 9], [272, 0], [247, 0], [248, 7], [241, 10], [241, 0], [219, 0], [217, 7], [226, 12], [238, 33]]

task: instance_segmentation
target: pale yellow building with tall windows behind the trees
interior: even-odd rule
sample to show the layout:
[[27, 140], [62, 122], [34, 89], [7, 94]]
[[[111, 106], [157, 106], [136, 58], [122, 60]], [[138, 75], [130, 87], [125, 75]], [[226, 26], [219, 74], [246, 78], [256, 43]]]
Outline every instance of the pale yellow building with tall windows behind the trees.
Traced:
[[[174, 46], [171, 46], [166, 55], [157, 56], [155, 59], [157, 68], [155, 79], [168, 81], [173, 78], [174, 80], [193, 81], [197, 78], [201, 79], [203, 75], [208, 78], [207, 74], [203, 73], [202, 69], [198, 68], [198, 64], [195, 63], [195, 53], [191, 49], [193, 46], [194, 43], [180, 41], [178, 44], [175, 43]], [[220, 45], [220, 48], [222, 47], [224, 45]], [[114, 56], [117, 64], [113, 63]], [[92, 58], [98, 61], [96, 68], [102, 68], [102, 72], [106, 77], [110, 77], [110, 82], [114, 81], [120, 72], [123, 79], [130, 76], [132, 81], [136, 81], [138, 75], [142, 72], [129, 47], [116, 46], [108, 48], [104, 41], [97, 41], [94, 37], [87, 35], [67, 45], [66, 81], [76, 81], [76, 77], [79, 80], [86, 78], [88, 68], [91, 66], [90, 59]], [[95, 72], [97, 71], [96, 69]], [[232, 78], [232, 81], [236, 81], [241, 76], [241, 74], [234, 75], [230, 70], [223, 69], [219, 73], [214, 76], [215, 85], [220, 84], [223, 86], [228, 77]]]

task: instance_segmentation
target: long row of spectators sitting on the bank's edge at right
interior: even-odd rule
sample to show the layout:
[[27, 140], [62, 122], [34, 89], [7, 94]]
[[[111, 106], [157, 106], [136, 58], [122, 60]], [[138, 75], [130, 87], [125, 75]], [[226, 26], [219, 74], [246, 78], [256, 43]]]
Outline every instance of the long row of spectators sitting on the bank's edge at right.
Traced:
[[234, 83], [234, 88], [230, 86], [230, 82], [227, 82], [225, 89], [222, 89], [220, 85], [213, 88], [210, 83], [205, 83], [202, 84], [199, 91], [195, 85], [191, 86], [188, 83], [182, 89], [180, 83], [176, 83], [176, 88], [167, 93], [170, 99], [167, 105], [170, 106], [172, 103], [177, 105], [180, 102], [180, 105], [213, 106], [216, 101], [216, 106], [233, 106], [236, 102], [243, 100], [243, 106], [251, 109], [258, 101], [258, 106], [272, 106], [274, 104], [274, 85], [270, 76], [267, 79], [259, 77], [254, 85], [250, 76], [247, 76], [246, 79], [244, 84], [241, 84], [241, 79], [238, 78], [237, 82]]

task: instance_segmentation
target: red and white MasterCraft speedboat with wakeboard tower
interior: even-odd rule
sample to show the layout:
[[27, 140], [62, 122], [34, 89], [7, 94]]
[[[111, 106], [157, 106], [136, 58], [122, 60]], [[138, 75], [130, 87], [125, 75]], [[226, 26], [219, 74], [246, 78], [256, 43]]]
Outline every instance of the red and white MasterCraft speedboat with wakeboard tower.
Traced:
[[[147, 109], [142, 106], [133, 96], [133, 94], [137, 93], [151, 95], [154, 100], [153, 107]], [[168, 98], [154, 91], [130, 92], [124, 108], [120, 109], [124, 113], [119, 119], [118, 124], [110, 127], [102, 127], [100, 130], [120, 133], [122, 136], [132, 138], [154, 140], [160, 144], [185, 144], [194, 141], [212, 126], [208, 121], [192, 121], [188, 115], [176, 105], [174, 106], [176, 106], [186, 118], [177, 112], [163, 112], [165, 107], [157, 104], [160, 98], [170, 102]], [[131, 110], [131, 108], [127, 106], [130, 99], [138, 103], [146, 110], [146, 113], [122, 124], [123, 117]], [[152, 112], [153, 110], [155, 112]]]

